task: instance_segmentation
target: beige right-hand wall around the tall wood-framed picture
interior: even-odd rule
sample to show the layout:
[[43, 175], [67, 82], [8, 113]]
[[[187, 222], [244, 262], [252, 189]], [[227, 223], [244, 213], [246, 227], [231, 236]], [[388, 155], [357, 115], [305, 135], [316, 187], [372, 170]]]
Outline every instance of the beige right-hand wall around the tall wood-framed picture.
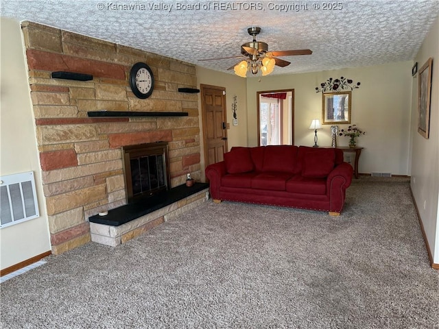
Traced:
[[[422, 47], [416, 55], [420, 69], [433, 58], [431, 81], [430, 134], [425, 139], [418, 134], [418, 77], [412, 88], [412, 192], [433, 261], [439, 268], [439, 19], [436, 19]], [[425, 205], [425, 206], [424, 206]]]

